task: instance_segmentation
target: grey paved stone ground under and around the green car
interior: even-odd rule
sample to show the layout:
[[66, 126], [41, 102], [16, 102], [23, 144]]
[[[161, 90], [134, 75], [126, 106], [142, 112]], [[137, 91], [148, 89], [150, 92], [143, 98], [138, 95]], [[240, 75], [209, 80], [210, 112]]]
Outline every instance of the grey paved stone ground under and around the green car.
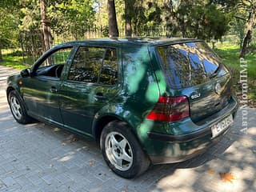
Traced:
[[[243, 134], [242, 110], [222, 142], [198, 158], [182, 163], [151, 166], [139, 178], [113, 174], [98, 145], [74, 139], [65, 130], [41, 122], [22, 126], [14, 121], [6, 103], [6, 76], [0, 66], [0, 192], [2, 191], [256, 191], [256, 110], [248, 110]], [[219, 173], [230, 172], [232, 182]]]

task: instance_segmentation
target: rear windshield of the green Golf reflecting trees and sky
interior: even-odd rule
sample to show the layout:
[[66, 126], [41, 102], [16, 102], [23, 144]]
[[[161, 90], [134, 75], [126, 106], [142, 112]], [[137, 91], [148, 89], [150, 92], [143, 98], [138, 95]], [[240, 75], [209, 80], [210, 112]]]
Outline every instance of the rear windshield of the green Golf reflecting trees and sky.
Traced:
[[[158, 46], [162, 71], [166, 82], [174, 89], [195, 86], [210, 81], [220, 65], [220, 58], [205, 42], [186, 42], [168, 46]], [[227, 73], [223, 66], [218, 77]]]

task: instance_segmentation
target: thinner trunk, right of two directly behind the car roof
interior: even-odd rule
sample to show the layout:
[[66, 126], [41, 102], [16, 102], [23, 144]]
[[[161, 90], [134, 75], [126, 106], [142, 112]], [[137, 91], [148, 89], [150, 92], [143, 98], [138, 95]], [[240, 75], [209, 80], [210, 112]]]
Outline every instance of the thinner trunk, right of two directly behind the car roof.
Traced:
[[125, 0], [125, 20], [126, 20], [126, 37], [131, 37], [131, 18], [134, 6], [134, 0]]

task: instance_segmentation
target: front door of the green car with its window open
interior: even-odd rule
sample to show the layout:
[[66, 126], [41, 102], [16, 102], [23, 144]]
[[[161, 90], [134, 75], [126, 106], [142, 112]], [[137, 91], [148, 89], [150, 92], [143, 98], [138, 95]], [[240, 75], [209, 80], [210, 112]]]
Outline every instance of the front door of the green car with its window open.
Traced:
[[28, 114], [36, 118], [62, 125], [58, 90], [63, 66], [70, 57], [72, 47], [50, 51], [34, 66], [31, 77], [24, 79], [22, 94]]

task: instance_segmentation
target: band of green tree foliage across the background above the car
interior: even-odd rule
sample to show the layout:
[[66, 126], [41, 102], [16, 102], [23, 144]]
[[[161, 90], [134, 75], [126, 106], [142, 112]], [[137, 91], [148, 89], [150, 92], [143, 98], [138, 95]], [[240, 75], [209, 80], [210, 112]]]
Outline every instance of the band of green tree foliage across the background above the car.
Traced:
[[[236, 25], [241, 45], [246, 50], [255, 27], [255, 1], [46, 0], [46, 8], [53, 34], [62, 36], [64, 40], [85, 38], [85, 34], [92, 29], [100, 29], [105, 36], [115, 28], [111, 32], [114, 36], [118, 32], [123, 35], [123, 31], [127, 36], [145, 36], [150, 34], [150, 30], [164, 29], [165, 34], [161, 35], [210, 41], [221, 39], [230, 26]], [[112, 10], [108, 12], [107, 7], [112, 7]], [[5, 45], [7, 42], [18, 42], [19, 33], [34, 33], [42, 29], [38, 0], [2, 0], [0, 9], [2, 46], [3, 42]]]

